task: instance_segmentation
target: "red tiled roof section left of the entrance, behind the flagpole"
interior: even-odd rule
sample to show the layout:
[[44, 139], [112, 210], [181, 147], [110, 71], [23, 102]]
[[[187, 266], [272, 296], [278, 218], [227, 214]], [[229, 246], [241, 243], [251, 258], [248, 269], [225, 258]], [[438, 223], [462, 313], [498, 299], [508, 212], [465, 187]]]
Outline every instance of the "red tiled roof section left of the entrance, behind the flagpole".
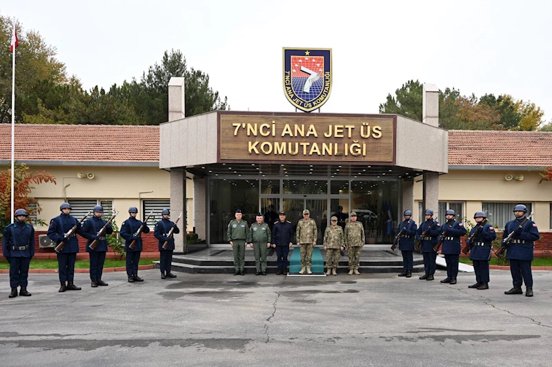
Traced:
[[[11, 125], [0, 124], [0, 160], [11, 160]], [[159, 126], [15, 125], [16, 161], [159, 162]]]

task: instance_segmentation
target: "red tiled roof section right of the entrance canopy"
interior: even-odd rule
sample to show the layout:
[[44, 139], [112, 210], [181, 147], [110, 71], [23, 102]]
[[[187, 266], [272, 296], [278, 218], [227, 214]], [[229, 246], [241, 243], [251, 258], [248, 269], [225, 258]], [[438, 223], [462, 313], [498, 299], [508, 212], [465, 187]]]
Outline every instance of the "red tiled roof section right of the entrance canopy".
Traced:
[[552, 132], [449, 131], [449, 166], [552, 167]]

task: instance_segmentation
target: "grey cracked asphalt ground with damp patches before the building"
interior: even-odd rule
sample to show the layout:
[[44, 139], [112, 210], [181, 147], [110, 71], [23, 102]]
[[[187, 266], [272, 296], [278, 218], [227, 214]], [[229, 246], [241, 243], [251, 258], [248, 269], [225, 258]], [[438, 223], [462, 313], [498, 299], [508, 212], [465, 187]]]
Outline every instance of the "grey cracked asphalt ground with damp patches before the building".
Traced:
[[58, 293], [32, 274], [8, 299], [0, 275], [1, 366], [551, 366], [552, 271], [535, 296], [504, 295], [509, 271], [444, 285], [396, 274], [285, 277], [106, 273]]

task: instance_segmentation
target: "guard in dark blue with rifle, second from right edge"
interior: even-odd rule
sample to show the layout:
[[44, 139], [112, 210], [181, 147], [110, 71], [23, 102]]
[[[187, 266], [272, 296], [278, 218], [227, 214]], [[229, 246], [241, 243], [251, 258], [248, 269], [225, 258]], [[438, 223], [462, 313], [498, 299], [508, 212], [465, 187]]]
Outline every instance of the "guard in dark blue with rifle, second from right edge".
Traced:
[[476, 283], [468, 288], [489, 289], [489, 260], [491, 260], [491, 249], [493, 241], [496, 240], [496, 232], [489, 223], [482, 223], [487, 216], [482, 211], [477, 211], [473, 219], [477, 224], [470, 231], [469, 238], [477, 232], [477, 235], [470, 242], [466, 240], [466, 246], [470, 248], [470, 260], [473, 262]]

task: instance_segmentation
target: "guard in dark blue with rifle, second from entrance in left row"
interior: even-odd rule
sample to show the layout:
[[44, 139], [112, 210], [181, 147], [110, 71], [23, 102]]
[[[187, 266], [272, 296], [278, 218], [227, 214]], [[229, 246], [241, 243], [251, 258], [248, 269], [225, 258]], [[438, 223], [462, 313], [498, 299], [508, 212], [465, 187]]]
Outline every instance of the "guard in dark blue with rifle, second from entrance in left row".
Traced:
[[[137, 207], [128, 208], [130, 217], [121, 224], [121, 237], [125, 239], [125, 252], [126, 252], [126, 275], [128, 275], [128, 282], [144, 282], [144, 279], [138, 276], [138, 263], [140, 262], [140, 254], [142, 252], [142, 237], [141, 233], [150, 233], [150, 227], [146, 222], [137, 220], [138, 215]], [[142, 227], [144, 226], [144, 227]], [[142, 227], [140, 235], [138, 233], [140, 227]], [[135, 241], [134, 249], [130, 248], [130, 244]]]

